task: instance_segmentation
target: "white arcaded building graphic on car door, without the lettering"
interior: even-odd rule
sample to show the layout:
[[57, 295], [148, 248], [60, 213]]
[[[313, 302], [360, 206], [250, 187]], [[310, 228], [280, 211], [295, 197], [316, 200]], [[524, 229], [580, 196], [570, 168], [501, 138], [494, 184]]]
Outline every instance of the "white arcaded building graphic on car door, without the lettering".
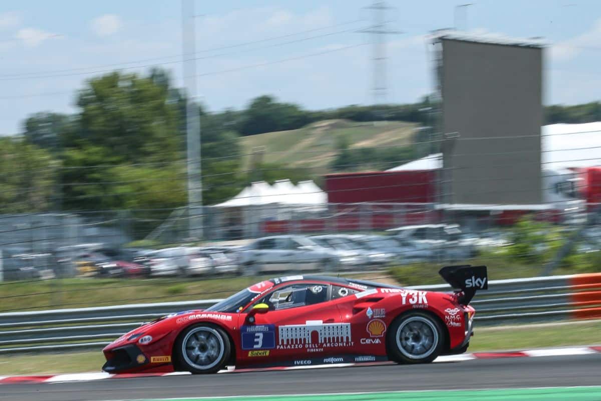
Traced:
[[350, 323], [323, 323], [307, 320], [304, 325], [279, 326], [279, 345], [312, 344], [311, 334], [317, 332], [318, 344], [350, 343]]

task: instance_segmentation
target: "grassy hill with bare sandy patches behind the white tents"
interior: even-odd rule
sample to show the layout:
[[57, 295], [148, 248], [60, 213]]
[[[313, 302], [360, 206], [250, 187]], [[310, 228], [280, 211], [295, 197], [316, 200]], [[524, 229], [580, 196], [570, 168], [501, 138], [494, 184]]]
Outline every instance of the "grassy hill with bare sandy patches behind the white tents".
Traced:
[[[349, 148], [409, 145], [416, 124], [402, 121], [355, 122], [325, 120], [301, 129], [267, 132], [240, 138], [245, 155], [263, 149], [263, 163], [278, 163], [288, 167], [310, 167], [328, 171], [338, 153], [341, 141]], [[245, 156], [248, 168], [250, 156]]]

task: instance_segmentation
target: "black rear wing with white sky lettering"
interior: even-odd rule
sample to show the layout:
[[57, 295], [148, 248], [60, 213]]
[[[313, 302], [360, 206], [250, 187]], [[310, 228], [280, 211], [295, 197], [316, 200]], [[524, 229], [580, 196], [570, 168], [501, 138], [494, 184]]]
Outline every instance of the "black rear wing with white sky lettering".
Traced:
[[459, 303], [469, 304], [474, 298], [476, 291], [488, 289], [488, 272], [486, 266], [445, 266], [438, 271], [451, 287], [460, 289]]

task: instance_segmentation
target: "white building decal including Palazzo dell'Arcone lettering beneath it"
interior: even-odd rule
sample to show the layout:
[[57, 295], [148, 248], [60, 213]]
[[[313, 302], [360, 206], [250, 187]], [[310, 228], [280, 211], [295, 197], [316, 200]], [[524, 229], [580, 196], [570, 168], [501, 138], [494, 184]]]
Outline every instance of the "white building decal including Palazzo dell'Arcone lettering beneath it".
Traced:
[[304, 325], [279, 326], [276, 348], [323, 352], [325, 348], [352, 346], [350, 323], [323, 323], [322, 320], [307, 320]]

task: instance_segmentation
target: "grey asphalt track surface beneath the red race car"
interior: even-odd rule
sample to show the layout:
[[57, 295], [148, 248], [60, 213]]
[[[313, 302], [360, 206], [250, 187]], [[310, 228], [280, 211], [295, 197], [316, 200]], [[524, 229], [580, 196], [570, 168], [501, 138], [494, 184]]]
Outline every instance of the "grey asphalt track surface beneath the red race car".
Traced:
[[427, 365], [5, 384], [1, 401], [131, 400], [263, 394], [590, 386], [601, 383], [601, 354], [498, 358]]

